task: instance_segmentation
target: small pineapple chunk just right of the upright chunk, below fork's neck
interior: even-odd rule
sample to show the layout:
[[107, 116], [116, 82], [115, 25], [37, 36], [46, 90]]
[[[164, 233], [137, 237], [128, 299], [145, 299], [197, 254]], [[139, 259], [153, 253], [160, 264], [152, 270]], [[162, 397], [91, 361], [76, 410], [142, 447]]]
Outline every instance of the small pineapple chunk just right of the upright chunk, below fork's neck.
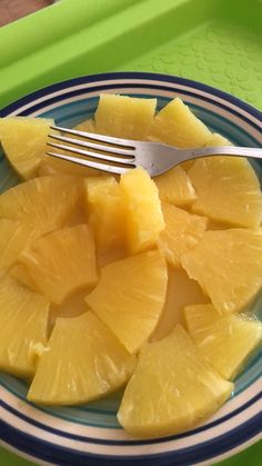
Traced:
[[154, 178], [159, 188], [159, 197], [164, 202], [175, 206], [189, 206], [195, 199], [195, 190], [182, 167], [174, 167]]

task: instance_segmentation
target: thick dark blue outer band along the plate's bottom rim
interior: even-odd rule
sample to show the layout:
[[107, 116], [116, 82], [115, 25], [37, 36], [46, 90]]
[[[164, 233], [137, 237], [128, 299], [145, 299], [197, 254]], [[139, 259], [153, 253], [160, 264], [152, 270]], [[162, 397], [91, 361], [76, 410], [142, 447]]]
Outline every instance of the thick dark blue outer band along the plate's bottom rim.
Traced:
[[[195, 445], [190, 448], [183, 448], [175, 452], [151, 454], [147, 456], [111, 456], [93, 455], [90, 453], [80, 453], [71, 448], [64, 448], [53, 445], [43, 439], [29, 436], [21, 430], [10, 427], [9, 424], [0, 422], [0, 435], [3, 442], [34, 456], [41, 460], [51, 462], [62, 466], [189, 466], [199, 462], [214, 458], [218, 455], [230, 452], [239, 445], [248, 442], [261, 432], [262, 415], [258, 414], [238, 428], [223, 434], [215, 439]], [[155, 463], [154, 463], [155, 462]]]

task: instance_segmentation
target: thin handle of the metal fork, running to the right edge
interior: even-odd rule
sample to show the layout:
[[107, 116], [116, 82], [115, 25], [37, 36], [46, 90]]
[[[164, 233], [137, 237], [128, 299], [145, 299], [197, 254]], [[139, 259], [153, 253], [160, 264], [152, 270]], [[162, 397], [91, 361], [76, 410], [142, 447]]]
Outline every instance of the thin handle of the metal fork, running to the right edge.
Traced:
[[221, 147], [204, 147], [200, 149], [191, 149], [187, 151], [187, 159], [198, 159], [199, 157], [208, 156], [235, 156], [262, 159], [262, 149], [254, 147], [236, 147], [236, 146], [221, 146]]

